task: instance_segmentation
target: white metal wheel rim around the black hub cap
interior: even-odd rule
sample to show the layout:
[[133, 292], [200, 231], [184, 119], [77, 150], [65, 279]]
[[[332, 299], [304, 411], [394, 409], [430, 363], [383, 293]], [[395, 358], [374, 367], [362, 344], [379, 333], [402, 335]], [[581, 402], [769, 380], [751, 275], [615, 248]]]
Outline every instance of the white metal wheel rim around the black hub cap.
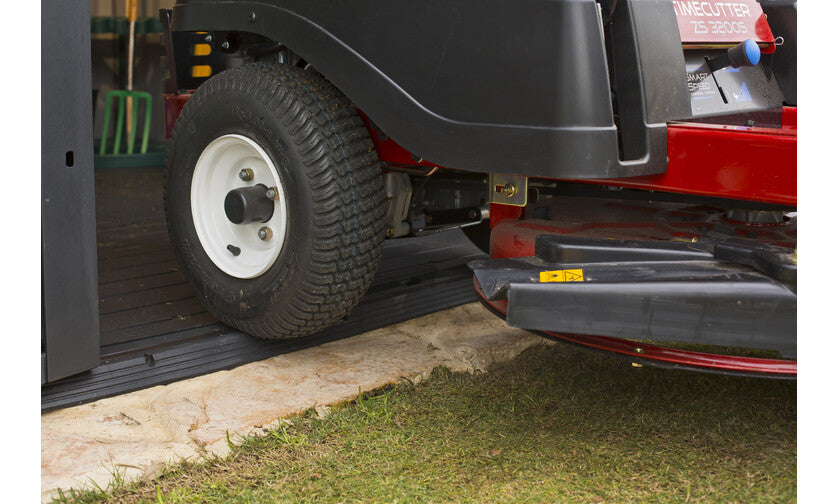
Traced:
[[[253, 171], [252, 180], [239, 178], [245, 168]], [[277, 189], [271, 219], [264, 223], [230, 222], [224, 212], [227, 193], [256, 184]], [[198, 239], [220, 270], [237, 278], [255, 278], [273, 266], [285, 241], [288, 211], [277, 169], [256, 142], [242, 135], [224, 135], [210, 142], [195, 164], [190, 197]], [[271, 230], [267, 240], [259, 238], [263, 226]], [[239, 254], [234, 255], [228, 245], [237, 247]]]

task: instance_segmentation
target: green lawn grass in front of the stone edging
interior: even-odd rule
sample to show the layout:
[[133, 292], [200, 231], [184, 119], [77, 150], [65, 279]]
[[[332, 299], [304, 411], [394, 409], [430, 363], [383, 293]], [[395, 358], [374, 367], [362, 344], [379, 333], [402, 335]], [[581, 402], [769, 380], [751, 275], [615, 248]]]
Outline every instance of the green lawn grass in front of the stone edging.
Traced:
[[573, 347], [437, 369], [225, 459], [58, 502], [794, 502], [796, 383]]

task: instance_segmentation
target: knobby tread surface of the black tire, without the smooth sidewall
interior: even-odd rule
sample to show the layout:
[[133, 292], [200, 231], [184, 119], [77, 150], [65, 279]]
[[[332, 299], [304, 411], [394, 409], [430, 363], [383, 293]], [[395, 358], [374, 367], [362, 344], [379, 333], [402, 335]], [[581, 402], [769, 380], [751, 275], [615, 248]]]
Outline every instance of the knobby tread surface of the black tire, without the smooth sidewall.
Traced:
[[[262, 101], [292, 136], [313, 194], [313, 250], [290, 304], [254, 318], [228, 313], [212, 299], [205, 304], [225, 324], [254, 336], [307, 336], [347, 316], [373, 281], [385, 234], [380, 162], [352, 103], [313, 71], [264, 63], [234, 67], [202, 85], [182, 114], [200, 107], [205, 95], [231, 91]], [[173, 128], [167, 173], [184, 127], [179, 120]], [[267, 302], [278, 304], [274, 297]]]

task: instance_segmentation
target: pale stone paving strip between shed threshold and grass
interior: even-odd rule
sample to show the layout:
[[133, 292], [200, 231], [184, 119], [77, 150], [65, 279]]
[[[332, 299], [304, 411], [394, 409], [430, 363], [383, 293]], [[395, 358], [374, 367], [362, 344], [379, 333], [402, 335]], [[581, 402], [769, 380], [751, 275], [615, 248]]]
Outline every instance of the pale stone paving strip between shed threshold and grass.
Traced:
[[[485, 370], [542, 338], [473, 303], [299, 352], [41, 416], [41, 496], [105, 488], [112, 474], [150, 477], [164, 465], [224, 456], [230, 439], [436, 366]], [[323, 408], [319, 408], [319, 411]]]

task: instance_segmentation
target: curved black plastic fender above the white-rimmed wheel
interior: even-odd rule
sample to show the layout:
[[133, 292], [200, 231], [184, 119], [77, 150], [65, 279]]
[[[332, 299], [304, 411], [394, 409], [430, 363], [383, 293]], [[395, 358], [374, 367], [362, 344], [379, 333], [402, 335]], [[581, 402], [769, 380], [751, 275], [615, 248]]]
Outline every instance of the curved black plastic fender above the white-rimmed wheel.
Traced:
[[[549, 178], [662, 173], [665, 122], [690, 115], [673, 6], [627, 0], [610, 20], [604, 30], [595, 0], [179, 0], [172, 10], [173, 31], [283, 44], [399, 144], [442, 166]], [[613, 87], [632, 142], [626, 159]]]

